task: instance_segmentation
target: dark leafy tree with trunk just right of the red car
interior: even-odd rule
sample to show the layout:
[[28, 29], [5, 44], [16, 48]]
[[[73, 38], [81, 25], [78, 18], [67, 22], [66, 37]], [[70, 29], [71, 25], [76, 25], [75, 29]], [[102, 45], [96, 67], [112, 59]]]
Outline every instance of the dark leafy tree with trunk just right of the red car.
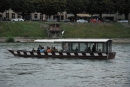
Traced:
[[89, 14], [99, 14], [102, 19], [102, 13], [111, 13], [114, 9], [112, 0], [84, 0], [85, 11]]

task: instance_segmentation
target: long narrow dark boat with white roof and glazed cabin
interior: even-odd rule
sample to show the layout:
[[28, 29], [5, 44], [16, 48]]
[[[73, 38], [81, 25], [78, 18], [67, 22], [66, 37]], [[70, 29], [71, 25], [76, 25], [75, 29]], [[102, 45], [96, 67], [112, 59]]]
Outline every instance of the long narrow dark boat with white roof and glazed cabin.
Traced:
[[111, 39], [39, 39], [34, 42], [60, 43], [62, 50], [52, 52], [8, 50], [14, 56], [37, 58], [113, 59]]

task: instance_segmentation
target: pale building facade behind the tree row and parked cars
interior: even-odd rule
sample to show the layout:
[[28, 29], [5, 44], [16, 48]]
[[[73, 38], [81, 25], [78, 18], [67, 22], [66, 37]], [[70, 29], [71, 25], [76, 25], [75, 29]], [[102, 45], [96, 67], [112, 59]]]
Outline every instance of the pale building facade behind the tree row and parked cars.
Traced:
[[[73, 14], [67, 14], [67, 12], [57, 13], [56, 15], [51, 16], [51, 19], [57, 19], [58, 21], [74, 16]], [[89, 14], [77, 14], [79, 17], [91, 17]], [[98, 16], [95, 14], [94, 16]], [[125, 19], [124, 14], [102, 14], [103, 19], [110, 19], [112, 21], [117, 21], [120, 19]], [[18, 13], [15, 13], [13, 10], [6, 10], [4, 13], [0, 13], [0, 20], [9, 21], [13, 18], [22, 18], [22, 16]], [[47, 20], [49, 17], [45, 14], [41, 13], [31, 13], [25, 14], [25, 20]]]

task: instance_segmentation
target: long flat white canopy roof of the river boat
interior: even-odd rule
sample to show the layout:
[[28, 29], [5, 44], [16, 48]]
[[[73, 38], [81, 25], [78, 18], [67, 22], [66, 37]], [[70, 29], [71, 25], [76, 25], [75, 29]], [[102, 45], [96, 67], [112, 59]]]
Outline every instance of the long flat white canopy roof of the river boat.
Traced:
[[37, 39], [34, 42], [107, 42], [111, 39]]

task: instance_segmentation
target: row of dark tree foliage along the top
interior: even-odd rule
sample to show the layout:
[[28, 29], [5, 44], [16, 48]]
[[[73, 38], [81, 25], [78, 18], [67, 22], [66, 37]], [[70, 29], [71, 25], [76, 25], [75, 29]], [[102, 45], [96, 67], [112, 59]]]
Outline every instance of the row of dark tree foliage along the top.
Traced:
[[11, 8], [17, 13], [24, 14], [40, 12], [46, 15], [55, 15], [57, 12], [67, 11], [75, 16], [78, 13], [89, 14], [119, 12], [128, 19], [130, 0], [0, 0], [0, 12]]

